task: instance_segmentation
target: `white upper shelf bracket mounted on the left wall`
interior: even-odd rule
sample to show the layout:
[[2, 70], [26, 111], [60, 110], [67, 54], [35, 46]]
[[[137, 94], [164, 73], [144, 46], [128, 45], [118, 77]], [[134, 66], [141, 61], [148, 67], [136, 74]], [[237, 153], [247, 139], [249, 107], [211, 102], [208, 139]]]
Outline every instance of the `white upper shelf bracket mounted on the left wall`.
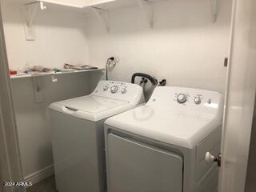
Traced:
[[33, 22], [35, 15], [40, 10], [46, 10], [46, 6], [43, 2], [30, 2], [24, 5], [24, 15], [25, 15], [25, 34], [27, 41], [34, 41], [34, 30]]

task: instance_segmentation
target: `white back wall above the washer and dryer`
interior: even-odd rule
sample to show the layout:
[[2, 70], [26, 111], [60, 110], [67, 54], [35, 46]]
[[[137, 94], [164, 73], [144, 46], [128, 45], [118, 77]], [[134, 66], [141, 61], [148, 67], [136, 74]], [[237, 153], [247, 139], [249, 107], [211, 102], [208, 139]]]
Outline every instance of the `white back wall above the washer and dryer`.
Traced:
[[121, 62], [110, 79], [130, 81], [134, 72], [166, 78], [170, 86], [224, 92], [230, 37], [231, 0], [219, 1], [211, 22], [210, 1], [173, 0], [154, 6], [154, 29], [139, 7], [110, 12], [110, 33], [96, 17], [86, 22], [91, 65], [111, 54]]

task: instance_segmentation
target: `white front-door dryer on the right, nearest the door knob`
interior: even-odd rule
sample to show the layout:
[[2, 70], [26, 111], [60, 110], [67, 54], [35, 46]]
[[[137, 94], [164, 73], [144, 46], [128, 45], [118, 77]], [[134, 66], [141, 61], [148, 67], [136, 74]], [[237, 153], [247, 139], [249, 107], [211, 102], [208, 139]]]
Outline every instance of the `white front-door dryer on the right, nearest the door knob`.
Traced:
[[223, 98], [157, 87], [145, 106], [105, 122], [108, 192], [216, 192]]

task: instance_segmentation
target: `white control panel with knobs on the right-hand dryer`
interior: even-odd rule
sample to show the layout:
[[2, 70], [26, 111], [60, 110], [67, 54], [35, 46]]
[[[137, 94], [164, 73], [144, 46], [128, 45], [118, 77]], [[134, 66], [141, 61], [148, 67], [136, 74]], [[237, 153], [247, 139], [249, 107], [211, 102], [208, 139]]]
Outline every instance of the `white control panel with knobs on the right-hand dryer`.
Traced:
[[146, 105], [195, 116], [221, 115], [224, 106], [222, 94], [218, 92], [175, 86], [156, 87]]

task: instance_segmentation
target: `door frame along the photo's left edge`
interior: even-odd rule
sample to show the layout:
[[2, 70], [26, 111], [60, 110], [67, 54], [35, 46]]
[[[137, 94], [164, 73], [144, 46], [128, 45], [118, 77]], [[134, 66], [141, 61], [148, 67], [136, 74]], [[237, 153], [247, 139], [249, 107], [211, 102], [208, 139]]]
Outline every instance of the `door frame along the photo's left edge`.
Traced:
[[[0, 177], [2, 182], [23, 182], [18, 130], [14, 114], [6, 42], [0, 4]], [[2, 187], [3, 192], [13, 191]]]

